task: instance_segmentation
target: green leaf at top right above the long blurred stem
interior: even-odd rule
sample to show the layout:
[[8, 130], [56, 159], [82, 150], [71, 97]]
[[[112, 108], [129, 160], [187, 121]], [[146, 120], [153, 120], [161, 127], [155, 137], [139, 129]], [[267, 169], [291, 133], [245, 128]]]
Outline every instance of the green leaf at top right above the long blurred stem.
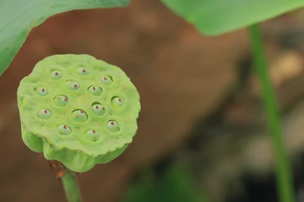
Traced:
[[304, 6], [303, 0], [161, 0], [205, 35], [220, 35]]

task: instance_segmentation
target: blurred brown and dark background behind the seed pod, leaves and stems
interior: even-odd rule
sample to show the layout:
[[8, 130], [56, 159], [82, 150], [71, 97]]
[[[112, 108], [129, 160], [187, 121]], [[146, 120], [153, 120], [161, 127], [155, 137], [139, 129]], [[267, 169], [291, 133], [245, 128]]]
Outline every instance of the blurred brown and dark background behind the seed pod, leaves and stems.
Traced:
[[[304, 10], [262, 24], [295, 193], [304, 201]], [[54, 54], [89, 54], [137, 87], [138, 133], [116, 160], [79, 174], [86, 202], [278, 201], [274, 153], [247, 30], [205, 37], [154, 0], [72, 11], [34, 28], [0, 79], [0, 201], [66, 201], [21, 139], [16, 90]]]

